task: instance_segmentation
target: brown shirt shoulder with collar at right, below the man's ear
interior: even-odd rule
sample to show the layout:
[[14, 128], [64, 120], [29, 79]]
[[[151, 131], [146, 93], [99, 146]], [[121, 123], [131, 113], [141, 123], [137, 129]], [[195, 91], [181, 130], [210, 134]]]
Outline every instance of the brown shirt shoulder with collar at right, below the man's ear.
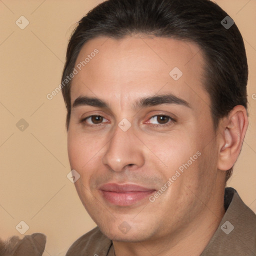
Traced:
[[256, 215], [232, 187], [225, 188], [226, 212], [200, 256], [254, 255]]

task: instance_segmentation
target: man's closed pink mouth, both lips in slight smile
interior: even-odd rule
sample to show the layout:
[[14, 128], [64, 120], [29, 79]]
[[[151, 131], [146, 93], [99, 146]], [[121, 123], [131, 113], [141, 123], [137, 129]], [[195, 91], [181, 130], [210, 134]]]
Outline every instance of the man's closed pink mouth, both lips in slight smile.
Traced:
[[114, 205], [132, 205], [152, 194], [155, 189], [134, 184], [106, 183], [99, 188], [105, 200]]

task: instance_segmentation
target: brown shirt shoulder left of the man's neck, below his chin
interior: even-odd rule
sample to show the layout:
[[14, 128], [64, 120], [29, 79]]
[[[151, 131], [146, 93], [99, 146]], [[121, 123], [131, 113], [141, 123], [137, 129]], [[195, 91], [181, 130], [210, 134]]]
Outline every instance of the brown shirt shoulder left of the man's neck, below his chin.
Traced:
[[79, 237], [68, 249], [66, 256], [106, 255], [112, 241], [104, 236], [96, 226]]

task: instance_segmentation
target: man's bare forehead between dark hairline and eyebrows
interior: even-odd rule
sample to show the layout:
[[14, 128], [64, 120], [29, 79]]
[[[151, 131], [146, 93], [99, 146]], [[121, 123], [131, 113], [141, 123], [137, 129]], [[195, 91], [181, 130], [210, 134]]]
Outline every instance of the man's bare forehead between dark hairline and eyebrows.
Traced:
[[71, 103], [84, 94], [111, 102], [171, 92], [205, 104], [203, 66], [201, 50], [192, 42], [143, 35], [97, 37], [83, 45], [76, 59]]

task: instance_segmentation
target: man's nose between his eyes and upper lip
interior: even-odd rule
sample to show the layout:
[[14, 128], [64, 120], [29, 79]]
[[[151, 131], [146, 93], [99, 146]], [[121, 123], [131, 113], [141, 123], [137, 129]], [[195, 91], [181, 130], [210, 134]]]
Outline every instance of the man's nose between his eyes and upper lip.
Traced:
[[123, 131], [118, 126], [106, 145], [102, 162], [113, 171], [123, 171], [127, 167], [136, 169], [144, 164], [141, 141], [133, 133], [132, 127]]

